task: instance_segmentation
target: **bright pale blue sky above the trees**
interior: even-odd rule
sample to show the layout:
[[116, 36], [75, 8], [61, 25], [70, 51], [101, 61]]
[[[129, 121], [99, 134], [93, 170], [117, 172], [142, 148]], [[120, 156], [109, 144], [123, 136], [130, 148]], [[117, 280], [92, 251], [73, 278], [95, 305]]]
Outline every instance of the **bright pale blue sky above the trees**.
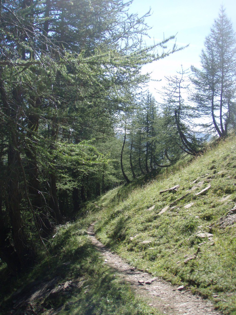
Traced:
[[181, 70], [181, 65], [183, 70], [190, 69], [191, 65], [200, 67], [199, 55], [204, 48], [205, 37], [210, 33], [222, 5], [236, 31], [235, 0], [133, 0], [130, 6], [132, 13], [142, 16], [151, 8], [152, 15], [146, 19], [152, 27], [147, 44], [152, 44], [153, 40], [160, 42], [164, 34], [165, 38], [176, 35], [178, 47], [189, 45], [182, 51], [143, 67], [143, 72], [152, 72], [152, 79], [161, 80], [149, 83], [149, 90], [156, 100], [161, 101], [157, 90], [165, 85], [165, 76], [175, 75]]

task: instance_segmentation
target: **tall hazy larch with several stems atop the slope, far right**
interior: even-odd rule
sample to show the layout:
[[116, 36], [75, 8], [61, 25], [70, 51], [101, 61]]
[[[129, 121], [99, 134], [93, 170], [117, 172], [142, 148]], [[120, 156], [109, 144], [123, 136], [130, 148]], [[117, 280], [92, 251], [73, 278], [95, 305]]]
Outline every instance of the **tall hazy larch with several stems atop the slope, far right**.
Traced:
[[206, 118], [205, 127], [220, 137], [235, 124], [236, 37], [223, 7], [200, 55], [201, 69], [192, 66], [192, 100], [198, 114]]

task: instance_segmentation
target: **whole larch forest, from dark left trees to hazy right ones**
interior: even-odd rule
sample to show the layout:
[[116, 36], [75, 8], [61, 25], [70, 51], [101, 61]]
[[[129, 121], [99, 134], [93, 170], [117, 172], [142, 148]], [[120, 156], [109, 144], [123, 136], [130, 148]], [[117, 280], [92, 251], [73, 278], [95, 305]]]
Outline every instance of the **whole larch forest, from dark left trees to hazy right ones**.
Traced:
[[225, 10], [201, 68], [167, 77], [160, 104], [142, 66], [184, 47], [174, 36], [147, 46], [149, 12], [129, 5], [0, 1], [0, 259], [13, 275], [86, 201], [235, 131], [236, 37]]

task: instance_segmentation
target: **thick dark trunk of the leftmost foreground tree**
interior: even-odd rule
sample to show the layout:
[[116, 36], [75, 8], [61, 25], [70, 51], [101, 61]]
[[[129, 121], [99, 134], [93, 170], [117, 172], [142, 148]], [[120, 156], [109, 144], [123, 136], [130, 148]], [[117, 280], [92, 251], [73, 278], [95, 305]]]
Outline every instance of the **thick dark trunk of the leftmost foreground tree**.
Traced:
[[[1, 70], [1, 69], [0, 69]], [[20, 201], [22, 198], [20, 191], [20, 165], [18, 155], [19, 153], [19, 140], [18, 140], [18, 121], [21, 104], [21, 93], [15, 88], [12, 91], [13, 100], [11, 105], [8, 103], [8, 96], [4, 88], [3, 81], [1, 80], [0, 72], [0, 95], [3, 102], [4, 110], [6, 115], [10, 118], [8, 124], [8, 168], [7, 168], [7, 179], [6, 179], [6, 210], [8, 211], [11, 227], [14, 249], [16, 254], [12, 251], [9, 241], [6, 241], [5, 245], [2, 246], [2, 254], [5, 252], [5, 259], [9, 258], [9, 255], [14, 256], [13, 259], [16, 261], [16, 265], [22, 267], [27, 266], [32, 262], [34, 257], [34, 251], [29, 247], [27, 238], [25, 236], [23, 222], [20, 213]], [[2, 223], [3, 224], [3, 223]], [[3, 225], [4, 230], [4, 225]], [[2, 240], [5, 237], [2, 235]], [[5, 250], [4, 250], [5, 248]], [[8, 261], [9, 267], [12, 269], [11, 259]], [[17, 268], [16, 268], [17, 269]]]

